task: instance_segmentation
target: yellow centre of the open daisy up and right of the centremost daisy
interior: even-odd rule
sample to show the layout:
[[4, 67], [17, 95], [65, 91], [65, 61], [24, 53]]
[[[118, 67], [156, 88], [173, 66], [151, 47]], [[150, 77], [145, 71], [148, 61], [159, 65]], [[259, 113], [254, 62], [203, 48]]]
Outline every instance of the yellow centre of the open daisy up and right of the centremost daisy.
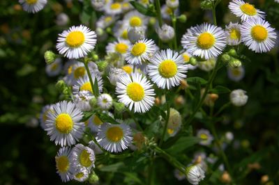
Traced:
[[165, 60], [159, 65], [159, 73], [166, 79], [174, 77], [176, 72], [177, 66], [176, 63], [172, 60]]

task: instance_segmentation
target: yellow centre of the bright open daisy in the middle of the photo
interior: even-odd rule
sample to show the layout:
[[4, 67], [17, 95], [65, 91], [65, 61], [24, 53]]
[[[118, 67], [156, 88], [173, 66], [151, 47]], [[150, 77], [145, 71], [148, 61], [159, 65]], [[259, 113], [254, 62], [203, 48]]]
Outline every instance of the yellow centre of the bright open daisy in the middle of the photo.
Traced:
[[134, 102], [140, 102], [144, 99], [144, 88], [139, 83], [130, 83], [127, 86], [127, 95]]

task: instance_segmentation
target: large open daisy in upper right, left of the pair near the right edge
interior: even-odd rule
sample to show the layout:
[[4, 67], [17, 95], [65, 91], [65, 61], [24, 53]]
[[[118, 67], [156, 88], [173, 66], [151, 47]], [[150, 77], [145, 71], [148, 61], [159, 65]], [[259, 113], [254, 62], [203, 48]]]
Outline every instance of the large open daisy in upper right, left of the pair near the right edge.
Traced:
[[189, 35], [183, 40], [183, 48], [194, 55], [206, 60], [222, 54], [226, 46], [226, 36], [218, 26], [204, 23], [193, 27]]

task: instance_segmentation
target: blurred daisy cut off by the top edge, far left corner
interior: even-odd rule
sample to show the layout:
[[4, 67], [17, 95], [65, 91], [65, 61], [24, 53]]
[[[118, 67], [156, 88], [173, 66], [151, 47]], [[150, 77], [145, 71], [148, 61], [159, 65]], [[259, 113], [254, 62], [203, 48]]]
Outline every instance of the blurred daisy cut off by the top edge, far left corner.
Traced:
[[47, 3], [47, 0], [19, 0], [22, 4], [23, 10], [28, 13], [37, 13], [42, 10]]

